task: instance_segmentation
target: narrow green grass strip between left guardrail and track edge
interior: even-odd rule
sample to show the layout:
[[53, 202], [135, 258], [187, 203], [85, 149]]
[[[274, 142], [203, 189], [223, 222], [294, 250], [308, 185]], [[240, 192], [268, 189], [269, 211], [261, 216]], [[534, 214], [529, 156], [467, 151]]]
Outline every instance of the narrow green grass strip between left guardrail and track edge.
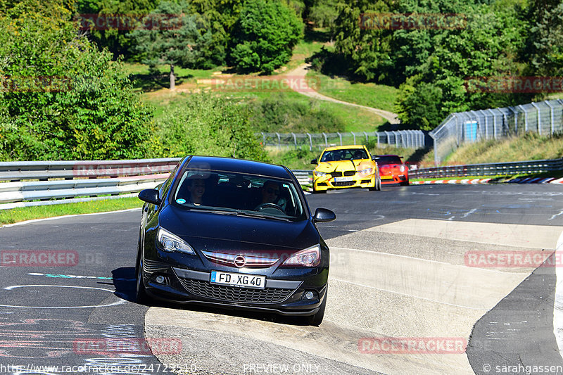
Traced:
[[13, 208], [0, 210], [0, 225], [24, 222], [25, 220], [43, 219], [64, 215], [89, 214], [139, 208], [143, 202], [137, 197], [103, 199], [78, 203], [63, 203], [60, 205], [38, 205], [34, 207]]

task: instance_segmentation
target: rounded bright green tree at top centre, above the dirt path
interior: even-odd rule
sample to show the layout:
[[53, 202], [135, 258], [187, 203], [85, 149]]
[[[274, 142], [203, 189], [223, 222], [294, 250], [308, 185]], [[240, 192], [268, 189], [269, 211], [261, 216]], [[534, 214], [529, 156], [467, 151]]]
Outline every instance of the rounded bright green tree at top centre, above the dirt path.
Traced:
[[301, 18], [281, 1], [247, 1], [233, 27], [230, 59], [239, 72], [270, 74], [289, 61], [301, 37]]

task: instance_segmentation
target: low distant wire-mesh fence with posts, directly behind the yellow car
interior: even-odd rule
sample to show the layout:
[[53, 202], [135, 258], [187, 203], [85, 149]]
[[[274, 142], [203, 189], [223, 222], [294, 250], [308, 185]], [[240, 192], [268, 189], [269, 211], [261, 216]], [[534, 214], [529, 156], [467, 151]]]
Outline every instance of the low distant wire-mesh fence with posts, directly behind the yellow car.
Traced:
[[256, 133], [264, 146], [277, 148], [308, 148], [322, 150], [329, 146], [347, 144], [391, 145], [403, 148], [426, 147], [426, 136], [421, 130], [395, 130], [389, 132], [337, 132], [337, 133]]

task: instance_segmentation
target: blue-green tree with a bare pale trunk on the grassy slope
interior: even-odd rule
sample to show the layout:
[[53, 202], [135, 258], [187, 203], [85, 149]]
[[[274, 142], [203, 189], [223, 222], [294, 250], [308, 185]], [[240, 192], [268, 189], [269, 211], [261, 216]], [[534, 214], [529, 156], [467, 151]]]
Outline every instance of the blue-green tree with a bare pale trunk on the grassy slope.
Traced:
[[159, 20], [158, 27], [141, 26], [130, 34], [141, 61], [151, 66], [170, 65], [170, 89], [175, 88], [175, 65], [208, 68], [205, 51], [212, 41], [211, 32], [201, 34], [201, 16], [186, 15], [188, 11], [189, 6], [183, 1], [163, 1], [145, 21], [146, 25]]

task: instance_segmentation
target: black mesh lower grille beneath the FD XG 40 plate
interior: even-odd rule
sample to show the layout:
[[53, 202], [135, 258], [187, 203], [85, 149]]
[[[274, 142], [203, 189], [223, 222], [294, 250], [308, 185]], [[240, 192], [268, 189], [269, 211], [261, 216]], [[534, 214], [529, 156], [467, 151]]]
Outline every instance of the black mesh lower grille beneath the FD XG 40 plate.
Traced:
[[236, 286], [214, 285], [209, 281], [180, 278], [189, 293], [229, 302], [279, 303], [293, 293], [293, 289], [252, 289]]

